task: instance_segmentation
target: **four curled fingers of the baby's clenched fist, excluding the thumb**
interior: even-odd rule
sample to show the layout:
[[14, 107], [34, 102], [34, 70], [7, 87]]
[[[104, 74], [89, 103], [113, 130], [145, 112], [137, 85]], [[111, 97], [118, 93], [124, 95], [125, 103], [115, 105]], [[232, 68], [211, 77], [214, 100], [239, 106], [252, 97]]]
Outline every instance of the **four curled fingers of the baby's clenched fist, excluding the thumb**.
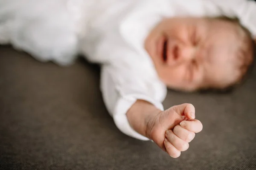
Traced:
[[195, 133], [202, 130], [203, 125], [197, 119], [187, 120], [180, 122], [180, 125], [176, 125], [173, 130], [166, 131], [166, 139], [164, 140], [164, 146], [166, 152], [173, 158], [180, 156], [181, 151], [185, 151], [189, 148], [189, 142], [191, 142]]

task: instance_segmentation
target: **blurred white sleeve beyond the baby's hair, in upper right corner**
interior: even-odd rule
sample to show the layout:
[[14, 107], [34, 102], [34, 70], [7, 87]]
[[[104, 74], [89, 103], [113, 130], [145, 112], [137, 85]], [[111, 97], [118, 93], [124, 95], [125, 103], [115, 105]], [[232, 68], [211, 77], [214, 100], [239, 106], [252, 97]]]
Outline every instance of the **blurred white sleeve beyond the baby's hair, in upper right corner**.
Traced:
[[256, 37], [256, 2], [254, 0], [211, 0], [222, 14], [239, 18], [253, 37]]

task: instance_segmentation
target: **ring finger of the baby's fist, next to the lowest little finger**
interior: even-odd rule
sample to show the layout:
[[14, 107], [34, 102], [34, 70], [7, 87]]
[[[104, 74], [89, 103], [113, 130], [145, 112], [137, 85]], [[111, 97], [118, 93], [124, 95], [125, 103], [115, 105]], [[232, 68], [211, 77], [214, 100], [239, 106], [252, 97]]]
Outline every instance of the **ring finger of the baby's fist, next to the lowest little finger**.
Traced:
[[166, 138], [179, 151], [185, 151], [189, 148], [189, 143], [176, 136], [172, 130], [166, 131]]

